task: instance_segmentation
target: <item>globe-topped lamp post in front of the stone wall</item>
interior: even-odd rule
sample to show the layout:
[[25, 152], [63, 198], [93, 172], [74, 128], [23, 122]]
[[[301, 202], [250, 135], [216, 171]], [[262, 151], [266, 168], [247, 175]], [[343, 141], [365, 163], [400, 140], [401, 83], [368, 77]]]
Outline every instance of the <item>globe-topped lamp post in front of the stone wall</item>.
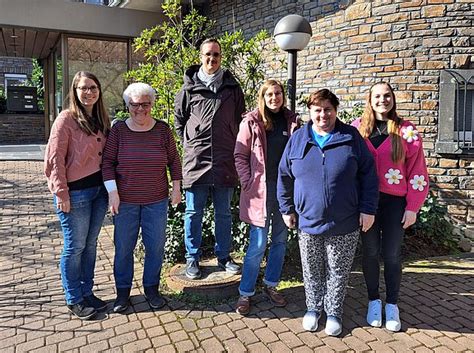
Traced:
[[273, 32], [280, 49], [288, 52], [288, 100], [290, 109], [296, 109], [297, 53], [308, 45], [313, 31], [309, 22], [300, 15], [288, 15], [278, 21]]

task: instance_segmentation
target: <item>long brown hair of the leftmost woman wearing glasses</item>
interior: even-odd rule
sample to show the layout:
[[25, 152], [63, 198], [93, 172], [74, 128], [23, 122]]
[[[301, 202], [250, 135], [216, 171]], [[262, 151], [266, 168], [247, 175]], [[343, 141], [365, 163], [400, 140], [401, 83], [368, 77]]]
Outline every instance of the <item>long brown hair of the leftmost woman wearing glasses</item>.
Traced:
[[[89, 117], [86, 110], [81, 104], [79, 97], [77, 96], [77, 84], [81, 77], [86, 77], [95, 82], [99, 89], [99, 99], [95, 102], [92, 108], [92, 117]], [[87, 71], [78, 71], [72, 79], [71, 88], [69, 89], [69, 105], [68, 110], [72, 113], [74, 119], [77, 121], [79, 128], [84, 131], [87, 135], [94, 134], [95, 127], [98, 127], [102, 133], [107, 134], [110, 129], [109, 114], [105, 109], [104, 102], [102, 100], [102, 88], [97, 77]], [[93, 119], [93, 121], [91, 121]]]

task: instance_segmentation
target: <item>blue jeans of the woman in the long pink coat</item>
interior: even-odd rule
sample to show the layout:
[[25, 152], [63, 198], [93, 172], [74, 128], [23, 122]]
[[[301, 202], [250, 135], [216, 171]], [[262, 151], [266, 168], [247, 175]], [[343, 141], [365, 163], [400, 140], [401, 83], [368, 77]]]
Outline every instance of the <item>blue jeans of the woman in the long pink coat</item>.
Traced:
[[242, 268], [242, 278], [239, 287], [240, 295], [252, 296], [255, 294], [255, 284], [260, 270], [260, 263], [267, 248], [270, 222], [272, 225], [272, 237], [263, 283], [267, 286], [276, 287], [280, 281], [281, 270], [285, 261], [288, 229], [285, 222], [283, 222], [278, 208], [276, 192], [268, 192], [268, 194], [265, 227], [250, 225], [250, 242]]

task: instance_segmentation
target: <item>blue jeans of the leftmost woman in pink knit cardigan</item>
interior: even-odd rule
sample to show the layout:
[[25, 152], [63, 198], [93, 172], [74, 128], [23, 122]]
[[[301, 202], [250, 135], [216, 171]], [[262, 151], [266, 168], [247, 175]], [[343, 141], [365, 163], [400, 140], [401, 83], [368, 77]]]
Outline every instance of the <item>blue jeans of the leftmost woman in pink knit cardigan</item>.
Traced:
[[66, 303], [80, 303], [92, 294], [97, 253], [97, 237], [108, 207], [103, 186], [69, 192], [71, 211], [65, 213], [54, 206], [61, 223], [64, 247], [61, 254], [61, 280]]

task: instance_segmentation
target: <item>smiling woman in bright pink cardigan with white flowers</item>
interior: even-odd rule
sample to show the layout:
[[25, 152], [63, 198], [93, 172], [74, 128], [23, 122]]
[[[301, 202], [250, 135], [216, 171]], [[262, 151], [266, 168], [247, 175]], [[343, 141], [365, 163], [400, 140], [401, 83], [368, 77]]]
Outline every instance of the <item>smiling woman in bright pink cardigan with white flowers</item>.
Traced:
[[362, 118], [353, 123], [374, 156], [380, 191], [375, 223], [361, 233], [362, 266], [369, 297], [367, 323], [382, 326], [381, 252], [386, 287], [385, 327], [390, 331], [401, 328], [397, 301], [404, 230], [415, 223], [429, 182], [421, 136], [412, 123], [397, 115], [396, 108], [392, 87], [386, 82], [376, 83], [370, 88]]

